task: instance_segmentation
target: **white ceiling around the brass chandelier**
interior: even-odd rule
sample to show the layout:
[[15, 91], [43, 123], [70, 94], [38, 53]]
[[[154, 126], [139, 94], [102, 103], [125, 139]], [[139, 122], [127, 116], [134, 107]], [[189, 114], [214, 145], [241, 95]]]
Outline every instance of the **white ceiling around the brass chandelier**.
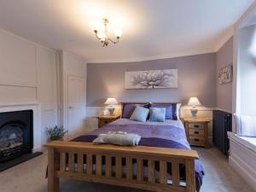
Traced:
[[[216, 51], [253, 0], [0, 0], [0, 28], [89, 62], [139, 61]], [[96, 40], [91, 22], [123, 29]]]

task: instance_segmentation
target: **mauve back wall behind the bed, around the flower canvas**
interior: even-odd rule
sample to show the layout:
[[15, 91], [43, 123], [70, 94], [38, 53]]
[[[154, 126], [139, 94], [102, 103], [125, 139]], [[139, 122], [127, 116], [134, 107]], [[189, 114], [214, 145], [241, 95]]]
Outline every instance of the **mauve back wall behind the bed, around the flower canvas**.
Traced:
[[[125, 72], [175, 69], [177, 89], [125, 90]], [[87, 106], [99, 107], [107, 97], [119, 102], [188, 102], [198, 96], [207, 107], [216, 106], [216, 54], [191, 55], [154, 61], [89, 63], [87, 66]]]

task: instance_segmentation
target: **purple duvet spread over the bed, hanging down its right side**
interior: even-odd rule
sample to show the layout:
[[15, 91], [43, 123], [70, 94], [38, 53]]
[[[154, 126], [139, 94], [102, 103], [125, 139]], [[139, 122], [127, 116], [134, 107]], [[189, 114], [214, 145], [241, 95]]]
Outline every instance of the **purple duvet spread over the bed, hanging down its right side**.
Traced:
[[[166, 120], [166, 122], [140, 123], [130, 119], [118, 119], [102, 129], [90, 132], [88, 135], [74, 138], [73, 142], [91, 143], [99, 134], [108, 131], [126, 131], [136, 133], [142, 137], [139, 145], [160, 148], [180, 148], [190, 150], [184, 127], [179, 120]], [[156, 165], [157, 167], [157, 165]], [[168, 166], [168, 172], [172, 172], [172, 166]], [[184, 177], [184, 166], [180, 167], [180, 175]], [[204, 171], [199, 160], [195, 160], [196, 189], [200, 191]]]

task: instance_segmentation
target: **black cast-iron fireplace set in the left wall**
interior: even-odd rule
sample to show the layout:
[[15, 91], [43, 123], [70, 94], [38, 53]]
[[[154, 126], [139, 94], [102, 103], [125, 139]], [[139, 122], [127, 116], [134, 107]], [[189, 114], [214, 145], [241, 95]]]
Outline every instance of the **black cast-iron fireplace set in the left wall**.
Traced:
[[33, 111], [0, 113], [0, 172], [31, 159]]

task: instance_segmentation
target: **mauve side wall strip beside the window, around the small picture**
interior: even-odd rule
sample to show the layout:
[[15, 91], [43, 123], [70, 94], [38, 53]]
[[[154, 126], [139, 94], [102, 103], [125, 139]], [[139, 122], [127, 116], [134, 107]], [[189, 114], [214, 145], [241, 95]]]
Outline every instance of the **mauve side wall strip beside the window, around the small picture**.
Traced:
[[[227, 65], [233, 64], [233, 38], [230, 38], [217, 52], [217, 77], [218, 70]], [[232, 83], [218, 84], [217, 80], [217, 108], [232, 111]]]

